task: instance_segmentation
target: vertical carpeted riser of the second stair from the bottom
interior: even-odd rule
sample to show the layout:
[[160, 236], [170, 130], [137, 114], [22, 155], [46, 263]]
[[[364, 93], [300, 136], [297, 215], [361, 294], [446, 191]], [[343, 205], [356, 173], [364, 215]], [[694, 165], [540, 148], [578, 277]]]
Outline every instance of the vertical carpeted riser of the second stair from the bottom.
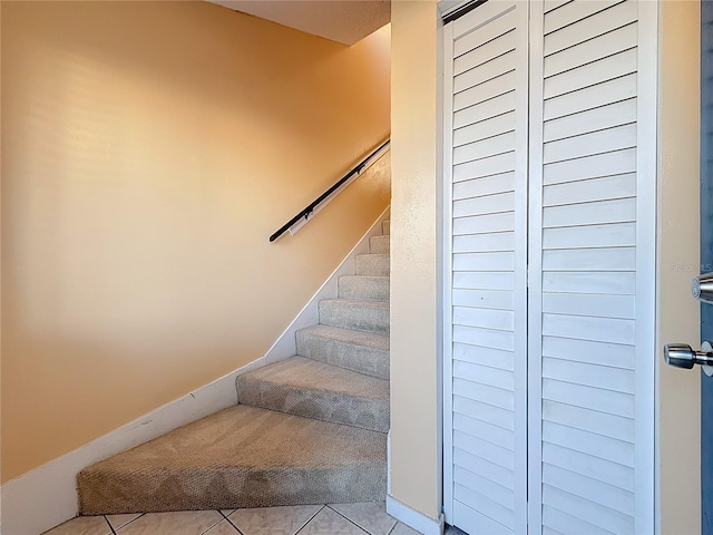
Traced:
[[389, 401], [335, 395], [240, 376], [237, 402], [372, 431], [389, 430]]

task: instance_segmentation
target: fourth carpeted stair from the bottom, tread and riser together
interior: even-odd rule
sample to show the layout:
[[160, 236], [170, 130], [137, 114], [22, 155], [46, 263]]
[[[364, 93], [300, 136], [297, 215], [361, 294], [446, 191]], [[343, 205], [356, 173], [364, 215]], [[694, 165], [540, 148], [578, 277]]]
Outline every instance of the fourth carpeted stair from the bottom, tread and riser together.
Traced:
[[320, 323], [389, 334], [389, 302], [356, 299], [320, 301]]

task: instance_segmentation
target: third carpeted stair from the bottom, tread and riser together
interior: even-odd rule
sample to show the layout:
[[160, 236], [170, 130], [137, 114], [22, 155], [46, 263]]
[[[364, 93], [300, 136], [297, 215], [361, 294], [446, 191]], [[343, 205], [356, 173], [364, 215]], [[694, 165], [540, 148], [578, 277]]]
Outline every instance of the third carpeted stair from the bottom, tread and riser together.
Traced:
[[389, 337], [329, 325], [296, 333], [297, 354], [348, 370], [389, 379]]

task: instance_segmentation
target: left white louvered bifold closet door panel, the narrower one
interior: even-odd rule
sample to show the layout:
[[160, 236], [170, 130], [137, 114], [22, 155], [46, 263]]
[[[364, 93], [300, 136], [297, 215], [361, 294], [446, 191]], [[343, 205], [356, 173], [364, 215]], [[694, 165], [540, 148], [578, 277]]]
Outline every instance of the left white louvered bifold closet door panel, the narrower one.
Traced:
[[527, 17], [526, 2], [492, 1], [446, 27], [452, 485], [445, 497], [453, 524], [473, 534], [527, 526]]

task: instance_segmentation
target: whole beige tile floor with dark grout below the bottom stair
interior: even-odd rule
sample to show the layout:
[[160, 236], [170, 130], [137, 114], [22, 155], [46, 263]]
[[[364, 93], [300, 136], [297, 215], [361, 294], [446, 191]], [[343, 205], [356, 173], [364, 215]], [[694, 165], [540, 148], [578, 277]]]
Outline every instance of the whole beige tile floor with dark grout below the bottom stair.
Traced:
[[[448, 534], [462, 534], [450, 528]], [[418, 535], [383, 503], [296, 505], [74, 518], [45, 535]]]

